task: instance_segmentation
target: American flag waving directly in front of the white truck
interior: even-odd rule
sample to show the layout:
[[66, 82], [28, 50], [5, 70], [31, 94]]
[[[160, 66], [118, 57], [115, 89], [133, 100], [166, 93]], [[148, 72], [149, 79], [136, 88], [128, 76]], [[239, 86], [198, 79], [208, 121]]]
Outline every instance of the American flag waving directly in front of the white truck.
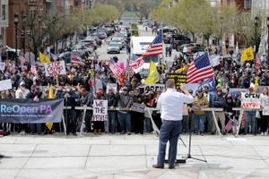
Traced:
[[147, 50], [140, 55], [134, 62], [130, 63], [129, 66], [132, 69], [139, 68], [143, 65], [143, 58], [147, 56], [161, 55], [162, 54], [162, 33], [159, 33], [156, 38], [153, 39], [152, 44]]

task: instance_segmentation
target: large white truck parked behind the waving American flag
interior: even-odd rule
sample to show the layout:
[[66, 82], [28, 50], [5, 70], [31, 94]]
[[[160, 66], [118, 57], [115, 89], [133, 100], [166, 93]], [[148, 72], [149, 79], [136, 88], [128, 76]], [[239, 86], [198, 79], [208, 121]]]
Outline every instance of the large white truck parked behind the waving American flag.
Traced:
[[[146, 49], [152, 44], [152, 41], [155, 37], [146, 36], [146, 37], [131, 37], [131, 59], [130, 63], [135, 60], [135, 56], [138, 57], [143, 55]], [[150, 68], [150, 63], [153, 61], [156, 66], [160, 62], [160, 55], [148, 56], [143, 58], [143, 65], [135, 70], [135, 72], [139, 72], [142, 76], [147, 76]]]

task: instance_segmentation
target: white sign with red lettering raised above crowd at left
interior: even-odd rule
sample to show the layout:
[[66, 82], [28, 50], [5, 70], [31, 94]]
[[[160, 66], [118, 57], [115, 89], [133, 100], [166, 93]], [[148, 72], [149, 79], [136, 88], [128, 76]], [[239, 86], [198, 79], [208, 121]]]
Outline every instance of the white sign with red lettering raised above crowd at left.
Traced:
[[65, 74], [65, 61], [52, 62], [44, 64], [46, 76], [56, 76], [58, 74]]

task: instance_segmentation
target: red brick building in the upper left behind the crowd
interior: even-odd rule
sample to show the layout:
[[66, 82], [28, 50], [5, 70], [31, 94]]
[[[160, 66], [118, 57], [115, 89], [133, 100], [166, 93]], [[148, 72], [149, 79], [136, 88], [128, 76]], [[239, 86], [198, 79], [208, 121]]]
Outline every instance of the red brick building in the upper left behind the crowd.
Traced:
[[[0, 0], [0, 5], [1, 5]], [[8, 27], [0, 26], [0, 45], [15, 47], [14, 13], [19, 14], [18, 22], [18, 48], [23, 48], [23, 25], [28, 31], [29, 17], [32, 15], [68, 14], [74, 9], [82, 12], [82, 0], [5, 0], [8, 1]], [[0, 8], [1, 12], [1, 8]], [[22, 14], [26, 14], [26, 22], [22, 24]], [[28, 35], [26, 34], [26, 48], [28, 48]]]

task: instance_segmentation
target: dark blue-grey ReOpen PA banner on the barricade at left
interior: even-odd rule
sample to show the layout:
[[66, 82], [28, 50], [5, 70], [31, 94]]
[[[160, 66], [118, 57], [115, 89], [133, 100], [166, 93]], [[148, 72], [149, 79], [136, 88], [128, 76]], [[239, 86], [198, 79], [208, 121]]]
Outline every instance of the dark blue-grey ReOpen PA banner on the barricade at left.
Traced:
[[64, 111], [64, 99], [1, 99], [0, 123], [60, 123]]

